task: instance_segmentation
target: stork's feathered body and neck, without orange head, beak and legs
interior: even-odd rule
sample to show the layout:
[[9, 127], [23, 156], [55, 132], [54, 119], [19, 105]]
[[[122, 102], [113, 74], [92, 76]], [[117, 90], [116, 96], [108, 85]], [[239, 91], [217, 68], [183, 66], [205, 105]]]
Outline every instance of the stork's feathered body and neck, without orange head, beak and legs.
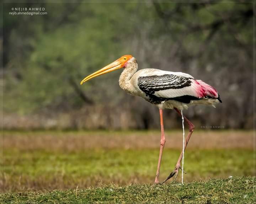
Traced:
[[140, 96], [160, 109], [187, 109], [191, 105], [212, 105], [221, 102], [218, 92], [201, 80], [182, 72], [160, 69], [138, 69], [133, 57], [127, 63], [119, 85], [128, 94]]

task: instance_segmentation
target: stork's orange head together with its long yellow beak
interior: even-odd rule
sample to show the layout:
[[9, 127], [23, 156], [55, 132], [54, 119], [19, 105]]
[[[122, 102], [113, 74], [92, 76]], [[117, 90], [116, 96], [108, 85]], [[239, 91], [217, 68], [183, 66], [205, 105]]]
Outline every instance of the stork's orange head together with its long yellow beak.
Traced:
[[94, 72], [92, 74], [90, 74], [89, 76], [85, 77], [82, 81], [81, 81], [81, 85], [83, 83], [85, 83], [85, 81], [88, 81], [94, 77], [98, 77], [102, 74], [106, 74], [108, 72], [112, 72], [116, 69], [120, 69], [123, 67], [126, 67], [126, 64], [129, 62], [130, 59], [132, 59], [133, 56], [132, 55], [124, 55], [122, 57], [120, 57], [119, 59], [117, 59], [116, 61], [108, 64], [106, 67], [103, 67], [102, 69], [98, 70], [97, 72]]

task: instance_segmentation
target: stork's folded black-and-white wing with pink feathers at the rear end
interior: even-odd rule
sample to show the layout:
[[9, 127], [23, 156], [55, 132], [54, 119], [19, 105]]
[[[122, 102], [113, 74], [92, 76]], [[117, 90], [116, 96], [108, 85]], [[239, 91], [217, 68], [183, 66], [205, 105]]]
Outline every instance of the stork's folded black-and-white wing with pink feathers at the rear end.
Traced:
[[191, 100], [219, 98], [218, 92], [212, 86], [180, 74], [139, 77], [138, 86], [146, 95], [158, 101], [190, 103]]

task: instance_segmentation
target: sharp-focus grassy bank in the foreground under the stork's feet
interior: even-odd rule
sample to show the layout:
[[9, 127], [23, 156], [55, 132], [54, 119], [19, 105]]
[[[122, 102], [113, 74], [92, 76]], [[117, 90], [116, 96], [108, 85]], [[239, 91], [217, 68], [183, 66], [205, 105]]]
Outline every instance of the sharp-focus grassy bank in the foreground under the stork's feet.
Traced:
[[1, 194], [2, 203], [256, 203], [256, 178]]

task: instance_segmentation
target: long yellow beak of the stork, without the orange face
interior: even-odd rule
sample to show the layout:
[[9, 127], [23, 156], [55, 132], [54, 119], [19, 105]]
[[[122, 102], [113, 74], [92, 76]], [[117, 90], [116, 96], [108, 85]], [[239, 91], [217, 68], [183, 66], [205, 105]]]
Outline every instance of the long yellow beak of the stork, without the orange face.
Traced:
[[92, 79], [94, 77], [98, 77], [98, 76], [100, 76], [102, 74], [106, 74], [108, 72], [112, 72], [112, 71], [114, 71], [116, 69], [120, 69], [122, 67], [123, 67], [122, 63], [119, 62], [119, 60], [116, 60], [116, 61], [112, 62], [111, 64], [108, 64], [106, 67], [103, 67], [102, 69], [98, 70], [97, 72], [94, 72], [94, 73], [90, 74], [89, 76], [85, 77], [81, 81], [80, 84], [82, 85], [83, 83], [85, 83], [85, 81], [88, 81], [88, 80], [90, 80], [90, 79]]

